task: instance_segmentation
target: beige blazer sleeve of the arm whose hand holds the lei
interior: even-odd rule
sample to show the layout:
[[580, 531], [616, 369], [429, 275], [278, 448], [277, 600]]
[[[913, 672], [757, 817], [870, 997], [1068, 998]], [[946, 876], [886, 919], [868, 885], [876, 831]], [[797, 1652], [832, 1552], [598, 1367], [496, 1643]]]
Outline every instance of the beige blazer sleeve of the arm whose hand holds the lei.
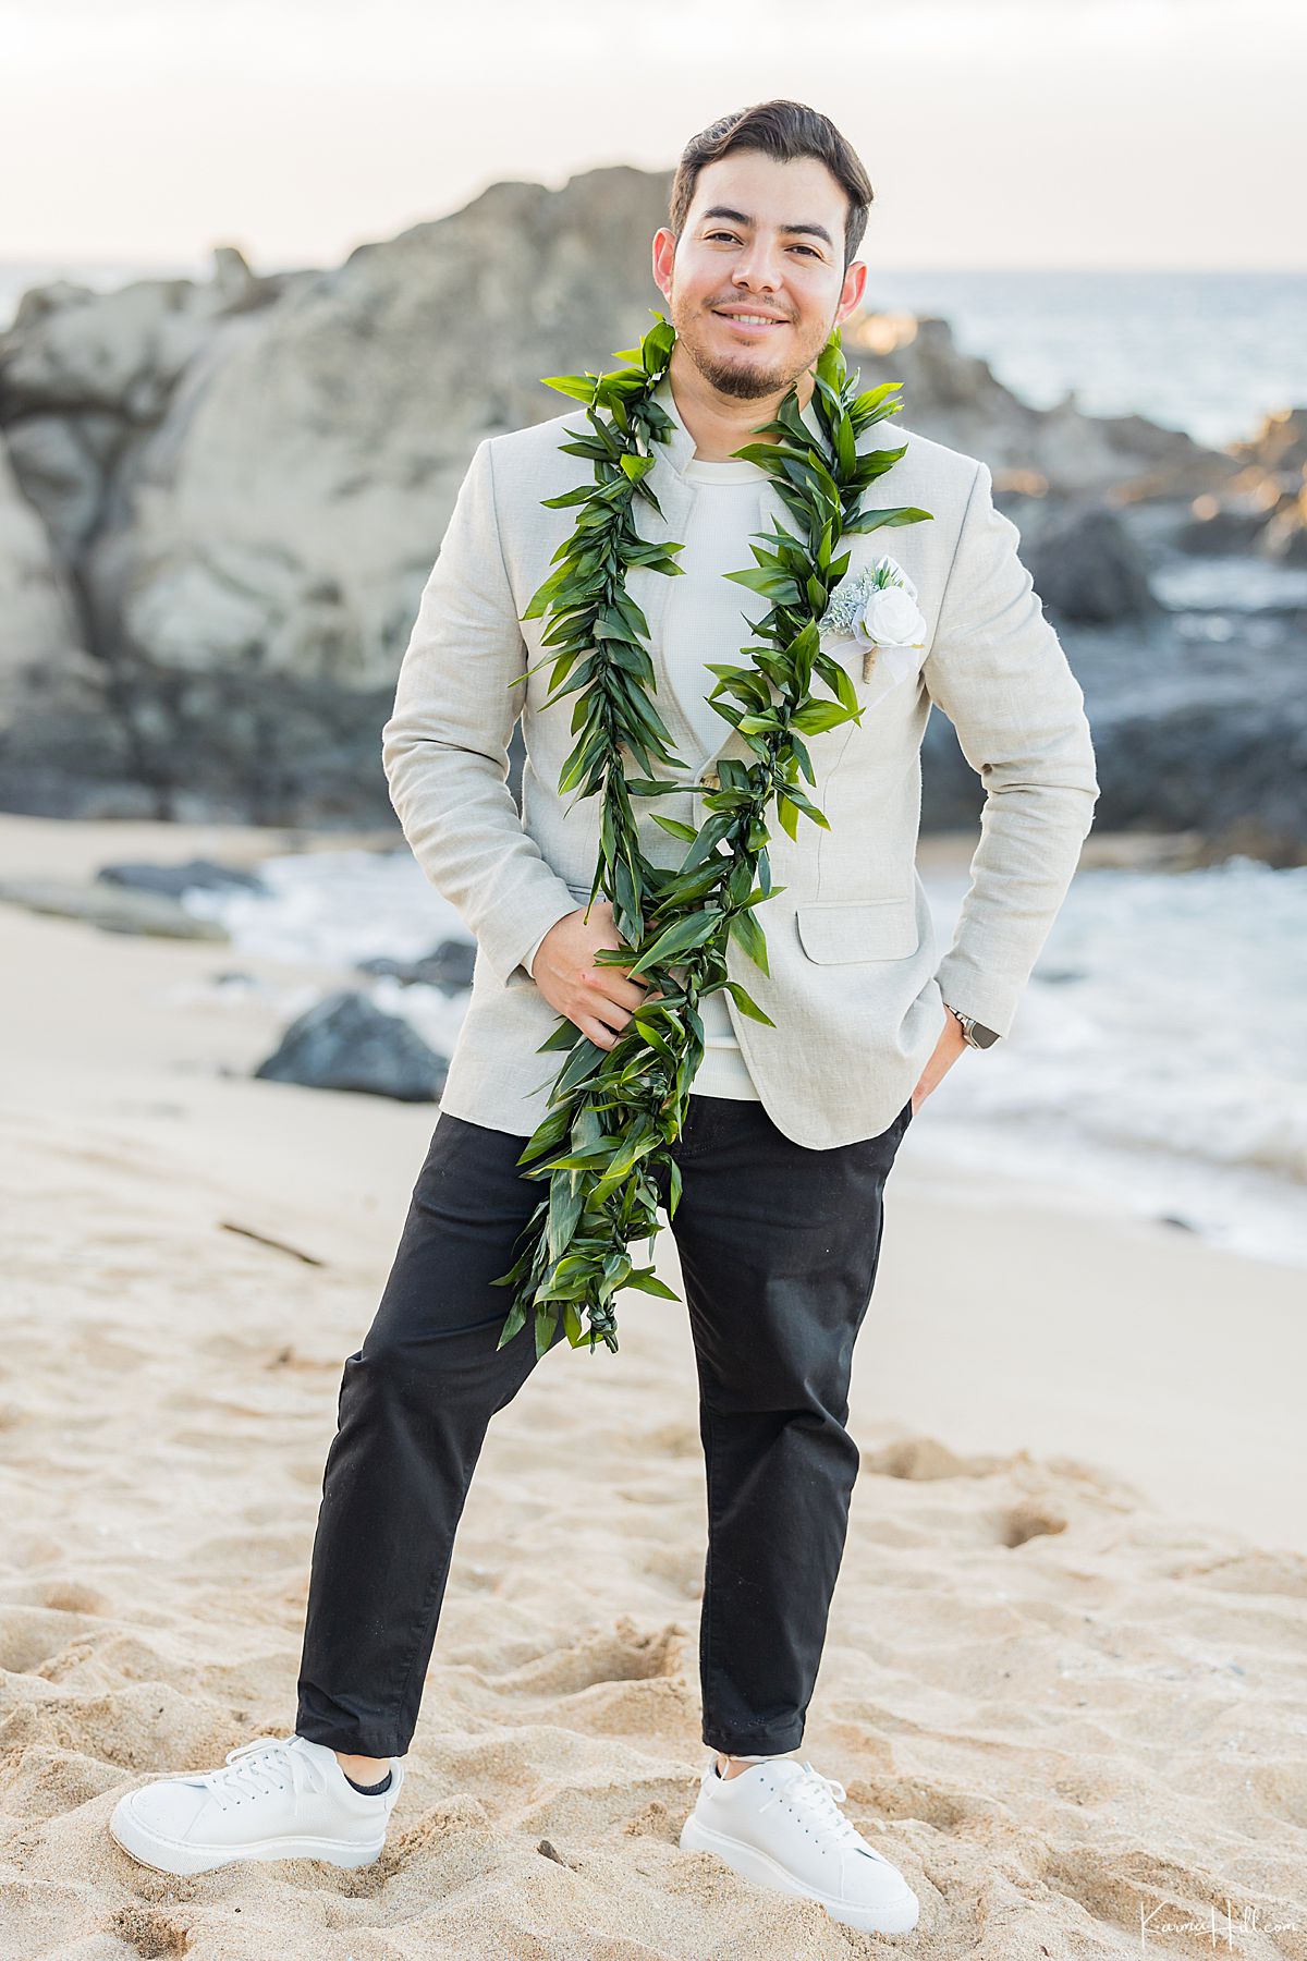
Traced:
[[492, 443], [472, 453], [423, 586], [382, 769], [413, 857], [508, 980], [576, 900], [508, 788], [529, 653], [500, 549]]

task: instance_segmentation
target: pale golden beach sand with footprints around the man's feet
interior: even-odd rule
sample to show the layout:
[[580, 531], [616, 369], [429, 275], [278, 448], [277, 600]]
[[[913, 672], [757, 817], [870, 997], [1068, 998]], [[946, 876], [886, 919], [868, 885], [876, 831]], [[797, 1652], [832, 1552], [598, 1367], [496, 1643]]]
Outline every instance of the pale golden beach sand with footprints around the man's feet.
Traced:
[[[292, 841], [0, 818], [0, 871]], [[0, 935], [4, 1961], [1307, 1957], [1303, 1275], [933, 1171], [929, 1100], [801, 1747], [915, 1934], [678, 1849], [703, 1465], [684, 1310], [641, 1294], [490, 1426], [380, 1861], [135, 1865], [123, 1788], [292, 1728], [341, 1367], [435, 1108], [253, 1081], [280, 1018], [206, 992], [337, 973], [12, 904]]]

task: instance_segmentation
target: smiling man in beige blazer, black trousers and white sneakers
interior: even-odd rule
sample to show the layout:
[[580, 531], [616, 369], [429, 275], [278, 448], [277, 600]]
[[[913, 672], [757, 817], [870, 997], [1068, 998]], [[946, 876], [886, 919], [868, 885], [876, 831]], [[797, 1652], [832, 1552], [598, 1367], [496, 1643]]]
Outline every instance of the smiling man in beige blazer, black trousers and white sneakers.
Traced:
[[[770, 102], [696, 137], [680, 163], [653, 273], [676, 327], [660, 400], [674, 422], [651, 482], [684, 541], [684, 577], [631, 569], [651, 626], [658, 712], [698, 828], [702, 794], [743, 737], [705, 702], [705, 663], [735, 661], [766, 610], [723, 575], [752, 565], [764, 471], [733, 457], [792, 384], [813, 416], [813, 365], [860, 304], [854, 263], [872, 190], [827, 122]], [[363, 1865], [382, 1847], [435, 1639], [455, 1528], [490, 1422], [535, 1365], [533, 1328], [496, 1347], [508, 1271], [541, 1198], [517, 1157], [545, 1116], [539, 1043], [558, 1016], [611, 1047], [645, 982], [594, 965], [621, 945], [611, 906], [584, 900], [598, 798], [560, 798], [570, 696], [547, 706], [549, 622], [523, 622], [572, 514], [543, 500], [586, 482], [560, 443], [576, 412], [484, 439], [423, 590], [382, 735], [392, 800], [431, 882], [478, 937], [472, 1000], [380, 1308], [345, 1363], [314, 1543], [292, 1737], [121, 1800], [120, 1841], [165, 1871], [237, 1857]], [[815, 427], [815, 424], [811, 424]], [[915, 1110], [964, 1047], [1007, 1033], [1066, 894], [1097, 782], [1084, 696], [993, 510], [982, 463], [897, 427], [907, 445], [880, 504], [931, 522], [848, 539], [856, 563], [894, 541], [927, 635], [888, 690], [860, 651], [866, 714], [813, 737], [829, 830], [780, 826], [760, 908], [770, 975], [729, 971], [774, 1020], [705, 1002], [707, 1051], [674, 1157], [672, 1222], [709, 1473], [700, 1665], [705, 1765], [682, 1845], [821, 1900], [872, 1932], [915, 1926], [917, 1898], [839, 1810], [843, 1786], [792, 1755], [821, 1657], [858, 1451], [845, 1418], [852, 1345], [882, 1241], [882, 1194]], [[531, 669], [527, 679], [521, 679]], [[937, 965], [915, 871], [919, 749], [931, 704], [986, 780], [982, 837], [954, 943]], [[523, 718], [521, 818], [508, 743]], [[674, 865], [641, 818], [643, 849]], [[647, 830], [647, 841], [645, 841]], [[662, 1192], [666, 1202], [666, 1188]], [[562, 1335], [562, 1322], [555, 1339]], [[609, 1361], [609, 1367], [621, 1367]]]

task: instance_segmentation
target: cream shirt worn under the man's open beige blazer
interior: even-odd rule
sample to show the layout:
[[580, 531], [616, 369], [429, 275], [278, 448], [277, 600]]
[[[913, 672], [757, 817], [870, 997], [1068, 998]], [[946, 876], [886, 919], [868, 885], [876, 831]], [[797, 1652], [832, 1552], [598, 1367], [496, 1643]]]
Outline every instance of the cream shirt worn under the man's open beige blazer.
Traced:
[[[711, 675], [705, 663], [745, 665], [741, 647], [752, 641], [754, 626], [768, 610], [768, 602], [760, 594], [723, 577], [756, 565], [750, 535], [764, 529], [760, 490], [766, 482], [766, 471], [743, 457], [733, 457], [727, 463], [705, 463], [702, 457], [692, 457], [684, 478], [694, 484], [696, 496], [686, 524], [686, 549], [676, 561], [682, 571], [680, 577], [672, 578], [666, 602], [662, 673], [664, 686], [676, 694], [702, 745], [700, 755], [682, 761], [698, 765], [703, 757], [713, 755], [731, 733], [725, 716], [719, 716], [705, 700], [709, 690], [717, 686], [717, 675]], [[545, 933], [541, 933], [543, 937]], [[541, 939], [527, 955], [527, 973]], [[758, 1102], [758, 1090], [731, 1028], [725, 990], [709, 994], [700, 1004], [700, 1014], [703, 1018], [703, 1061], [696, 1071], [690, 1094]]]

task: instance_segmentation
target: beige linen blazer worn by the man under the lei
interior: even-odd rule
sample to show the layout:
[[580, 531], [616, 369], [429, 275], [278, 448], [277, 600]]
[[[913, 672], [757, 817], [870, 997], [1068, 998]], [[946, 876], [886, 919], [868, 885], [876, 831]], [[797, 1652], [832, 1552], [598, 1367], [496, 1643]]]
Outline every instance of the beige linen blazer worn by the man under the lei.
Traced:
[[[635, 524], [647, 539], [684, 539], [696, 488], [682, 471], [696, 443], [666, 377], [658, 400], [676, 424], [670, 441], [654, 445], [647, 478], [662, 518], [637, 502]], [[815, 408], [803, 414], [817, 431]], [[557, 792], [574, 741], [576, 694], [545, 706], [549, 620], [521, 620], [576, 520], [574, 508], [545, 510], [541, 498], [594, 480], [590, 463], [558, 449], [584, 427], [576, 404], [476, 445], [382, 729], [382, 767], [404, 835], [478, 941], [441, 1108], [521, 1137], [543, 1122], [564, 1061], [558, 1051], [537, 1053], [558, 1016], [521, 961], [549, 926], [584, 906], [598, 859], [600, 798]], [[848, 571], [892, 555], [917, 586], [925, 645], [907, 677], [890, 682], [878, 673], [880, 655], [864, 679], [852, 641], [823, 641], [864, 704], [860, 726], [805, 737], [817, 782], [803, 788], [831, 830], [799, 816], [798, 839], [790, 839], [772, 824], [772, 882], [786, 890], [754, 914], [770, 977], [737, 941], [727, 953], [731, 979], [776, 1024], [749, 1020], [725, 994], [762, 1106], [809, 1149], [890, 1128], [944, 1028], [944, 1002], [999, 1035], [1011, 1030], [1099, 794], [1082, 688], [1017, 557], [1019, 531], [993, 506], [988, 467], [915, 435], [896, 416], [862, 431], [858, 447], [872, 445], [907, 447], [868, 504], [913, 504], [933, 516], [847, 539]], [[764, 531], [772, 518], [790, 522], [770, 482], [762, 512]], [[721, 743], [703, 755], [676, 698], [660, 655], [670, 582], [647, 567], [627, 575], [649, 620], [656, 706], [682, 763], [662, 773], [684, 792], [637, 800], [641, 847], [660, 867], [680, 863], [686, 845], [651, 810], [698, 830], [713, 765], [752, 761], [725, 720]], [[750, 637], [743, 622], [741, 645]], [[719, 659], [737, 661], [739, 647], [723, 647]], [[813, 692], [825, 696], [821, 680]], [[921, 739], [935, 702], [986, 788], [970, 886], [943, 959], [915, 863]], [[517, 718], [527, 751], [521, 816], [508, 788]], [[984, 1067], [984, 1057], [964, 1067]]]

